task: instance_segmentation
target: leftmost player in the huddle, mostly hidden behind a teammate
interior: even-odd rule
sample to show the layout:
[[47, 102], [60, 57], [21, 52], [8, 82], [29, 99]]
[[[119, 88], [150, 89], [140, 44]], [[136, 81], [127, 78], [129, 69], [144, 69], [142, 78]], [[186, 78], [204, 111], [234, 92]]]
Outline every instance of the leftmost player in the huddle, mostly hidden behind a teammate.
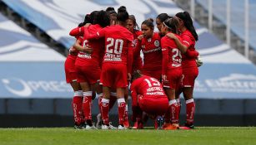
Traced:
[[[84, 21], [78, 25], [78, 29], [83, 27], [86, 23], [90, 23], [91, 17], [86, 15]], [[76, 43], [81, 44], [83, 41], [82, 36], [76, 36]], [[78, 56], [78, 50], [73, 46], [69, 50], [67, 59], [65, 60], [65, 74], [66, 81], [69, 83], [74, 91], [72, 106], [73, 106], [73, 118], [74, 118], [74, 128], [81, 129], [84, 128], [84, 118], [83, 118], [83, 90], [78, 83], [78, 74], [75, 69], [75, 61]]]

